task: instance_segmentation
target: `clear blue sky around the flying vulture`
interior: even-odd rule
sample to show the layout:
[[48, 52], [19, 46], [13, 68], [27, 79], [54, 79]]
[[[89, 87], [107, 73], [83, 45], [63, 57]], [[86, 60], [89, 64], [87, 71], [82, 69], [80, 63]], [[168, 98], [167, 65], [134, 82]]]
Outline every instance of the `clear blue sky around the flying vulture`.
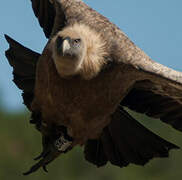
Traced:
[[[181, 0], [84, 2], [119, 26], [152, 59], [182, 71]], [[42, 51], [47, 40], [33, 14], [30, 0], [2, 1], [0, 22], [0, 100], [6, 110], [19, 111], [24, 106], [21, 92], [12, 82], [12, 68], [4, 56], [8, 44], [3, 34], [37, 52]]]

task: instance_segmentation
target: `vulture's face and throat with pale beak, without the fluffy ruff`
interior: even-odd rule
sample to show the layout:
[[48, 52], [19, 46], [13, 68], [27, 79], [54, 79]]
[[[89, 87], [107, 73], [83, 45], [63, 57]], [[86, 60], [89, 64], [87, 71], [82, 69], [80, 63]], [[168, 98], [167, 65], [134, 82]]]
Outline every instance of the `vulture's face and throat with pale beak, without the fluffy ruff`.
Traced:
[[53, 59], [62, 77], [77, 74], [86, 54], [83, 38], [75, 31], [61, 31], [57, 34]]

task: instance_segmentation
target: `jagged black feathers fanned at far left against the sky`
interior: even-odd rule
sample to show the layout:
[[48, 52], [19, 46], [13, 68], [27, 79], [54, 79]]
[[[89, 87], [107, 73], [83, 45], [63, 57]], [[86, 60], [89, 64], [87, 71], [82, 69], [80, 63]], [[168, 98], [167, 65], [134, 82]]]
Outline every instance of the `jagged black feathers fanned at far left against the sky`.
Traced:
[[36, 64], [40, 54], [22, 46], [7, 35], [5, 38], [10, 46], [5, 55], [13, 67], [13, 81], [23, 91], [24, 104], [30, 108], [34, 94]]

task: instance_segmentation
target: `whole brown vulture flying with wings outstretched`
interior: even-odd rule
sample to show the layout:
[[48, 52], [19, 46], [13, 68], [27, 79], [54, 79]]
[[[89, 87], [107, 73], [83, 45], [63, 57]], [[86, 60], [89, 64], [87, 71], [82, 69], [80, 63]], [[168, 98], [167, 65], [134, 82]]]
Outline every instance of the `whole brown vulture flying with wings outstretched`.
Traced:
[[49, 39], [42, 54], [5, 35], [14, 83], [43, 152], [25, 175], [74, 148], [100, 167], [145, 165], [178, 146], [139, 122], [127, 107], [182, 131], [182, 73], [150, 59], [116, 25], [81, 0], [31, 0]]

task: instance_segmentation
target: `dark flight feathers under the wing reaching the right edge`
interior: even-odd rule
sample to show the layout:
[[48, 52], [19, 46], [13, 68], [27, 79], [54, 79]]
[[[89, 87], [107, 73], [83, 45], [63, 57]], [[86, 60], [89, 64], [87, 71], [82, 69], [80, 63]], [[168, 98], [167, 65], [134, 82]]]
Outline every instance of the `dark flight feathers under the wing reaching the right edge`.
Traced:
[[136, 112], [160, 118], [182, 131], [181, 91], [168, 83], [143, 80], [135, 83], [121, 104]]

